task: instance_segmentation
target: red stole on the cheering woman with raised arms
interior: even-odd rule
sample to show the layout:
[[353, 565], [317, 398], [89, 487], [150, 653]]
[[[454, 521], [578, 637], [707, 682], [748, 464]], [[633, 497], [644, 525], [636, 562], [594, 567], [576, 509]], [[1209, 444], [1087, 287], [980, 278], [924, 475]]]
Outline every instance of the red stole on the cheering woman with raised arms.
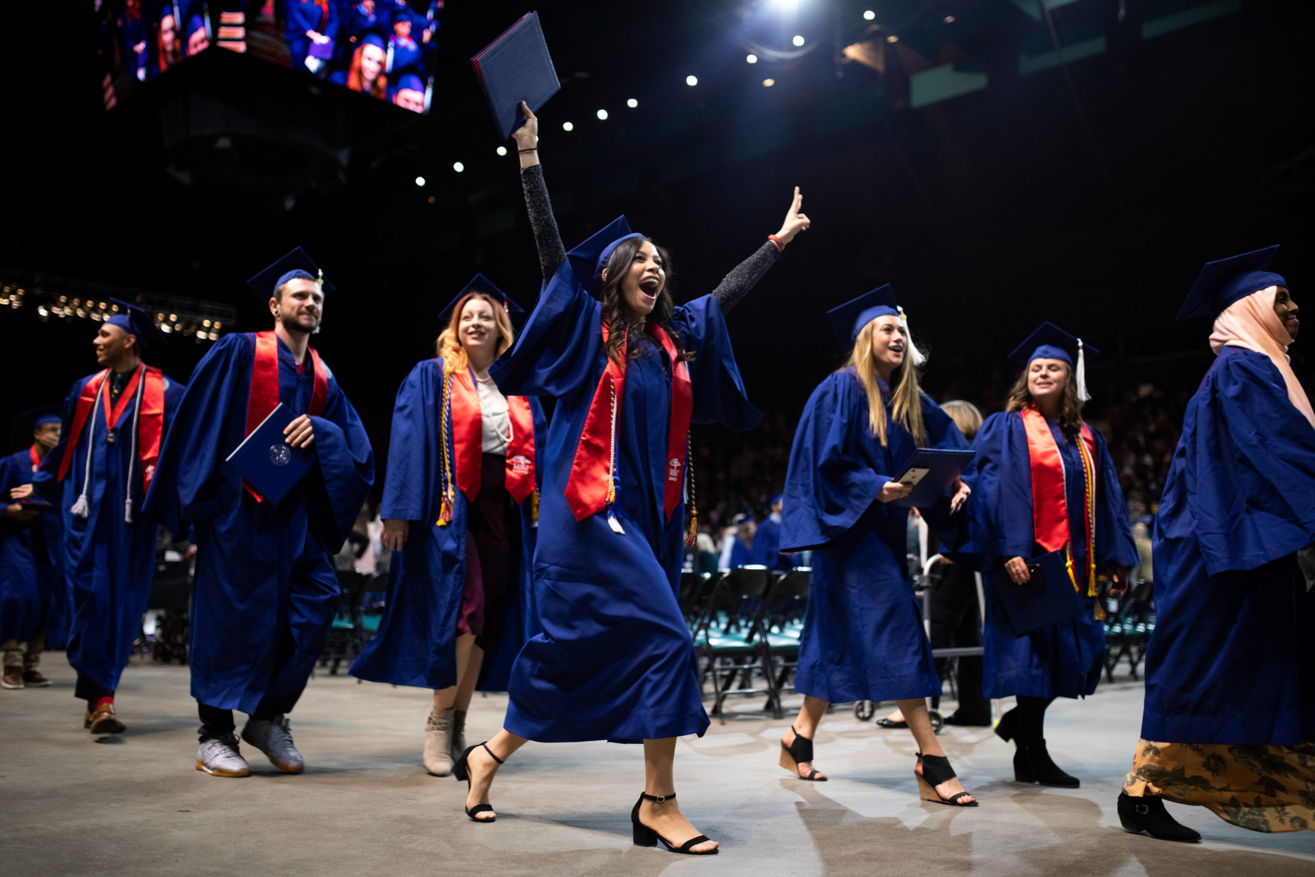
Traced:
[[[667, 485], [663, 506], [667, 519], [680, 505], [684, 485], [685, 464], [689, 451], [689, 418], [694, 412], [694, 393], [689, 383], [689, 366], [676, 362], [676, 344], [667, 331], [648, 323], [648, 331], [656, 338], [667, 356], [671, 358], [671, 421], [667, 425]], [[629, 331], [629, 330], [627, 330]], [[608, 323], [602, 323], [602, 343], [608, 343]], [[575, 459], [571, 462], [571, 475], [567, 479], [565, 497], [575, 513], [576, 521], [584, 521], [592, 514], [611, 508], [617, 500], [617, 414], [626, 389], [626, 358], [621, 362], [608, 359], [608, 367], [598, 379], [589, 404], [589, 414], [580, 433]], [[621, 531], [621, 525], [611, 519], [613, 529]]]

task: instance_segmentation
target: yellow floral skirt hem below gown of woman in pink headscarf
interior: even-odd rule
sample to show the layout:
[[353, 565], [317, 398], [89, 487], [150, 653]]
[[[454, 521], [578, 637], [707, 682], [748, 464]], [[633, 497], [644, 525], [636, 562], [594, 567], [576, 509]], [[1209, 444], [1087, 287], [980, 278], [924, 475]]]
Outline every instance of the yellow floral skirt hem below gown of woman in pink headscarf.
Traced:
[[1252, 831], [1315, 831], [1315, 743], [1139, 740], [1123, 790], [1131, 797], [1152, 794], [1210, 807], [1224, 822]]

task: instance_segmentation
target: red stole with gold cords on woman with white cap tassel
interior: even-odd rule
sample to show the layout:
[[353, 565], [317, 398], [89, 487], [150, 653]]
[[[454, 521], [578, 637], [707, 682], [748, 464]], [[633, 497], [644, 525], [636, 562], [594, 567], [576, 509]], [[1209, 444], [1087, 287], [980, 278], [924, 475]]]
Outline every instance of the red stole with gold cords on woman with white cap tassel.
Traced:
[[[1081, 593], [1082, 585], [1073, 569], [1072, 534], [1069, 533], [1068, 498], [1064, 492], [1064, 462], [1045, 415], [1028, 405], [1019, 415], [1027, 433], [1027, 455], [1032, 468], [1032, 534], [1045, 551], [1066, 551], [1069, 577]], [[1082, 459], [1082, 518], [1086, 536], [1086, 596], [1095, 597], [1095, 437], [1082, 423], [1082, 440], [1077, 443]], [[1098, 613], [1097, 617], [1101, 617]]]

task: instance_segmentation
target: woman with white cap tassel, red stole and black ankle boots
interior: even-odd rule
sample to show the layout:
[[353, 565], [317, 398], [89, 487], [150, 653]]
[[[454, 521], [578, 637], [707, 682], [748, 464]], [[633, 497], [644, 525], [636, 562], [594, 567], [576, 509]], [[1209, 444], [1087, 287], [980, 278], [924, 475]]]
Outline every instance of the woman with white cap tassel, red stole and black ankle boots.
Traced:
[[[1082, 422], [1085, 362], [1098, 355], [1052, 323], [1041, 326], [1010, 359], [1024, 366], [1005, 410], [982, 422], [965, 473], [973, 548], [986, 573], [982, 694], [1016, 697], [995, 732], [1014, 739], [1014, 778], [1076, 788], [1045, 748], [1045, 707], [1056, 697], [1095, 692], [1105, 668], [1105, 613], [1097, 575], [1107, 573], [1111, 593], [1127, 586], [1137, 563], [1127, 505], [1114, 460], [1099, 430]], [[1015, 635], [997, 594], [1031, 579], [1028, 563], [1066, 551], [1070, 584], [1082, 611], [1070, 621]], [[1055, 582], [1047, 581], [1047, 586]]]

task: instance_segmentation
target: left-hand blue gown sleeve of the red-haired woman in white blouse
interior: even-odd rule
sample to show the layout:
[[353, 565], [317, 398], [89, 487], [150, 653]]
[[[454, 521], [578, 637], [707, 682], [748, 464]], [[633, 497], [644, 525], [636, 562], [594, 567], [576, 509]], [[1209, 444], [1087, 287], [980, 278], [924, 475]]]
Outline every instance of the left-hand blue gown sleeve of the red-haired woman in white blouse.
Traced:
[[[442, 379], [442, 362], [417, 363], [397, 389], [393, 430], [388, 442], [388, 476], [384, 479], [383, 518], [394, 521], [437, 519], [431, 506], [433, 484], [439, 473], [438, 412], [434, 388]], [[441, 489], [441, 488], [439, 488]]]

